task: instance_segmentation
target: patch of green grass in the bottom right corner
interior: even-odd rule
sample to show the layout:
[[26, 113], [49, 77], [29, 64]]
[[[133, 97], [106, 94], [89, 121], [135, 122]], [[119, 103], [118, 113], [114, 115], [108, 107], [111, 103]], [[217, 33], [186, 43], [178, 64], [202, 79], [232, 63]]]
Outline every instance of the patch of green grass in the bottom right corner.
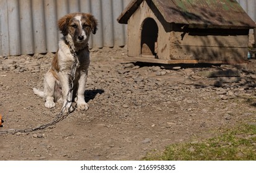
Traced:
[[224, 130], [208, 140], [177, 143], [163, 153], [149, 153], [143, 160], [243, 161], [256, 160], [256, 124], [243, 124]]

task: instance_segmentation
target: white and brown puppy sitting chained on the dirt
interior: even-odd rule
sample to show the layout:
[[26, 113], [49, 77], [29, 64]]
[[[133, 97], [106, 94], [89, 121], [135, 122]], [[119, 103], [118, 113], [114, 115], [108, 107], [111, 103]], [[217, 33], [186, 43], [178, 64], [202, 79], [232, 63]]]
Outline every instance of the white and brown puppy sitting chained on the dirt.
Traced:
[[[59, 49], [53, 57], [51, 68], [46, 72], [43, 82], [43, 91], [33, 88], [35, 95], [46, 99], [45, 107], [55, 107], [55, 102], [63, 103], [67, 111], [73, 111], [71, 102], [66, 103], [67, 99], [74, 99], [77, 109], [87, 110], [89, 105], [84, 100], [86, 90], [87, 71], [90, 64], [88, 40], [90, 32], [93, 34], [97, 30], [97, 20], [91, 14], [73, 13], [68, 14], [58, 20], [63, 38], [59, 42]], [[77, 69], [73, 81], [73, 91], [68, 96], [69, 83], [71, 83], [71, 65], [73, 65], [77, 55]], [[68, 96], [68, 98], [67, 98]]]

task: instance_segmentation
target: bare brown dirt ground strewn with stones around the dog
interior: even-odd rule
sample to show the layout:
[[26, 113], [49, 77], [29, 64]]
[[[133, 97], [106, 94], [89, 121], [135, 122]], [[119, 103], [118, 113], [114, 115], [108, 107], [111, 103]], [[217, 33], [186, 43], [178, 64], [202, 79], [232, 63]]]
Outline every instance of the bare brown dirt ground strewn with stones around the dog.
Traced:
[[[159, 65], [126, 61], [126, 48], [91, 51], [88, 111], [30, 133], [0, 135], [0, 160], [139, 160], [171, 143], [200, 141], [239, 123], [254, 123], [255, 59], [241, 65]], [[42, 88], [53, 54], [0, 57], [0, 130], [55, 119]], [[237, 70], [223, 82], [201, 72]], [[256, 125], [256, 124], [255, 124]]]

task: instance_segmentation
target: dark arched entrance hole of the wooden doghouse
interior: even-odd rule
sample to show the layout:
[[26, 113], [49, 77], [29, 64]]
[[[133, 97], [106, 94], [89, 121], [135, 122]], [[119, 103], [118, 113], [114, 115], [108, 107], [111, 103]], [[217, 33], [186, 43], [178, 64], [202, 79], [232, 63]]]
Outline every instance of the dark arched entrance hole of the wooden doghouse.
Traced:
[[153, 57], [157, 55], [158, 27], [154, 19], [144, 20], [141, 31], [141, 56]]

